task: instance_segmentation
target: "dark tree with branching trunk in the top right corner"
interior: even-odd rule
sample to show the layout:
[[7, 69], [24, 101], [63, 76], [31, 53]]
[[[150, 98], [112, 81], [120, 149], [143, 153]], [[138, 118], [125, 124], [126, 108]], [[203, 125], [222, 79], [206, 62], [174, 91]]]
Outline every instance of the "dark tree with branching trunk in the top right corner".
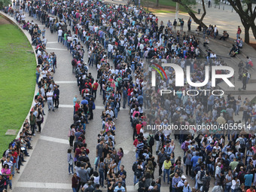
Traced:
[[251, 0], [227, 0], [232, 8], [239, 14], [242, 26], [245, 27], [245, 43], [250, 42], [249, 29], [251, 27], [254, 38], [256, 38], [256, 25], [254, 23], [256, 17], [256, 7], [252, 8]]

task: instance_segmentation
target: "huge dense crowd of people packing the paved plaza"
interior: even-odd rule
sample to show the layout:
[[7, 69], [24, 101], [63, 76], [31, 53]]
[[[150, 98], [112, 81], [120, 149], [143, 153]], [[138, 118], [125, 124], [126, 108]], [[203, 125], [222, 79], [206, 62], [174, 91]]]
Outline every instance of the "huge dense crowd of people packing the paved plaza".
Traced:
[[[37, 80], [41, 87], [37, 101], [47, 99], [49, 110], [52, 107], [54, 111], [53, 100], [50, 101], [50, 98], [55, 99], [56, 108], [59, 105], [56, 99], [59, 98], [59, 91], [53, 94], [50, 90], [58, 90], [52, 80], [56, 69], [56, 55], [45, 51], [47, 40], [44, 36], [44, 41], [41, 40], [41, 33], [45, 29], [40, 31], [33, 22], [23, 22], [23, 11], [29, 12], [29, 16], [35, 20], [40, 20], [51, 32], [56, 32], [59, 43], [66, 46], [73, 57], [70, 61], [71, 68], [77, 78], [79, 97], [82, 98], [75, 96], [73, 99], [74, 122], [69, 129], [69, 145], [72, 149], [68, 150], [67, 160], [69, 174], [74, 174], [73, 191], [100, 191], [99, 187], [107, 187], [108, 191], [126, 191], [123, 149], [114, 148], [116, 131], [118, 132], [115, 122], [121, 107], [127, 107], [130, 111], [136, 160], [133, 167], [127, 169], [133, 169], [133, 184], [139, 192], [158, 192], [163, 184], [169, 184], [169, 191], [173, 192], [209, 191], [211, 184], [214, 185], [214, 192], [255, 191], [256, 105], [249, 99], [242, 100], [240, 96], [237, 99], [232, 95], [214, 96], [211, 94], [214, 89], [210, 83], [201, 87], [211, 90], [207, 93], [182, 95], [184, 91], [199, 89], [188, 84], [175, 87], [175, 73], [170, 67], [164, 68], [166, 81], [159, 77], [157, 87], [151, 87], [151, 68], [145, 68], [148, 65], [145, 59], [154, 63], [169, 60], [182, 69], [190, 66], [194, 82], [204, 81], [205, 66], [226, 65], [213, 52], [209, 52], [206, 61], [200, 61], [200, 41], [194, 35], [181, 32], [183, 29], [179, 31], [175, 28], [176, 24], [172, 25], [170, 21], [164, 26], [154, 14], [146, 13], [133, 5], [87, 1], [24, 2], [21, 6], [14, 16], [19, 18], [19, 22], [21, 20], [23, 29], [29, 30], [32, 35], [38, 64], [43, 69], [41, 81]], [[212, 29], [216, 37], [218, 29]], [[84, 61], [85, 54], [87, 62]], [[149, 62], [149, 66], [151, 65], [153, 63]], [[91, 70], [97, 71], [97, 77], [93, 77], [88, 71], [89, 66], [95, 66]], [[164, 89], [177, 94], [160, 96], [159, 90]], [[90, 120], [93, 120], [97, 92], [102, 95], [105, 110], [101, 115], [102, 131], [98, 135], [93, 167], [88, 157], [90, 150], [85, 142], [85, 132]], [[40, 103], [41, 105], [35, 106], [36, 109], [39, 108], [38, 112], [35, 112], [35, 108], [31, 112], [31, 119], [26, 122], [20, 139], [20, 142], [26, 139], [28, 148], [31, 147], [29, 139], [35, 134], [35, 118], [40, 110], [44, 113], [43, 102]], [[240, 108], [242, 119], [235, 120]], [[146, 130], [147, 125], [170, 124], [178, 127], [192, 125], [193, 129], [158, 129], [149, 133]], [[218, 125], [218, 129], [199, 131], [198, 125]], [[224, 128], [221, 129], [221, 126]], [[178, 148], [184, 151], [182, 156], [175, 155], [175, 140], [178, 140]], [[9, 151], [13, 144], [10, 148]], [[20, 148], [24, 148], [24, 145]], [[8, 156], [13, 155], [8, 152]], [[10, 161], [8, 158], [4, 165]], [[5, 170], [6, 167], [4, 166]], [[155, 169], [158, 172], [154, 172]], [[11, 170], [14, 172], [14, 169]]]

